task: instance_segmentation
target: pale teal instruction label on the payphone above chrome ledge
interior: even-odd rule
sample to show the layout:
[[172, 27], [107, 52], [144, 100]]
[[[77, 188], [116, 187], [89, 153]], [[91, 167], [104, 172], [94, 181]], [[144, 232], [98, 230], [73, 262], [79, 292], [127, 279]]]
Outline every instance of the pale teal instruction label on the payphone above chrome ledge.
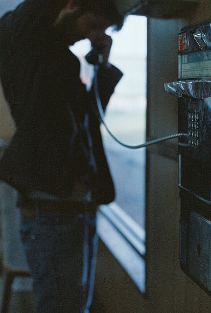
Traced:
[[179, 62], [181, 78], [211, 77], [211, 50], [182, 54]]

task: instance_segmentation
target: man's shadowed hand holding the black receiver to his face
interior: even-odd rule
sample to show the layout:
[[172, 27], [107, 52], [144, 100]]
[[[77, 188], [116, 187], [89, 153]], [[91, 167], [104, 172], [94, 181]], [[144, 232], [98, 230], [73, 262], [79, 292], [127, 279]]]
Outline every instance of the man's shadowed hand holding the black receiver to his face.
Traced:
[[[108, 59], [112, 46], [112, 38], [99, 30], [91, 31], [87, 38], [91, 41], [93, 46], [93, 50], [87, 57], [87, 61], [89, 63], [97, 63], [97, 61], [99, 61], [99, 64], [110, 67]], [[99, 54], [99, 60], [97, 60]]]

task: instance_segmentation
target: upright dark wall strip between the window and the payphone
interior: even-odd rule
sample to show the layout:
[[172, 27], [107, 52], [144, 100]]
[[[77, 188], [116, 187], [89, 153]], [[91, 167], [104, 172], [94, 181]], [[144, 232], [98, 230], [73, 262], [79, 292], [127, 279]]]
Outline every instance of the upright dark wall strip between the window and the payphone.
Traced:
[[[208, 9], [210, 1], [207, 3]], [[177, 132], [177, 99], [166, 94], [163, 85], [177, 80], [177, 32], [187, 23], [202, 18], [196, 12], [189, 17], [186, 21], [149, 19], [149, 138]], [[207, 18], [205, 15], [202, 19]], [[179, 268], [177, 165], [176, 142], [148, 150], [146, 229], [150, 307], [156, 313], [208, 313], [211, 298]]]

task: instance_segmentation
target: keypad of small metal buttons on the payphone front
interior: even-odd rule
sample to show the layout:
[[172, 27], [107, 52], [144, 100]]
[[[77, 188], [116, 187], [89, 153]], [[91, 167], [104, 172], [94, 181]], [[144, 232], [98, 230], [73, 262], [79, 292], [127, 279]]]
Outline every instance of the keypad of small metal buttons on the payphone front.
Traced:
[[198, 147], [199, 145], [199, 111], [188, 111], [188, 145]]

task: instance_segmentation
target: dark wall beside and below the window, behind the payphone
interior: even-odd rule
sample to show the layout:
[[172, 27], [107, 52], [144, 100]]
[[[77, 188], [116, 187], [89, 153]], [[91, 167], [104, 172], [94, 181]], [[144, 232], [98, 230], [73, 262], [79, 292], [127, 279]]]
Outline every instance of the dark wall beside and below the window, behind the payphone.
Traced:
[[[164, 82], [177, 80], [177, 33], [187, 24], [211, 18], [210, 9], [210, 0], [201, 0], [183, 20], [148, 21], [148, 138], [177, 132], [177, 99], [164, 91]], [[106, 313], [211, 312], [211, 298], [179, 267], [177, 166], [177, 140], [148, 149], [147, 298], [100, 244], [95, 293]]]

